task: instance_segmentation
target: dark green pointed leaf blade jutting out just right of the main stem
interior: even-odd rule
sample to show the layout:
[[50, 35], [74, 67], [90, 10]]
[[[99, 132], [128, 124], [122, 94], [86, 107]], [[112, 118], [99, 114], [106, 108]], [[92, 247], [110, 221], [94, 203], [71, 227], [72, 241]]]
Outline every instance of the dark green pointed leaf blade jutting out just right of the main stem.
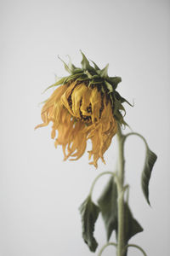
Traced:
[[[143, 228], [140, 226], [138, 221], [133, 218], [133, 214], [130, 211], [130, 208], [127, 205], [127, 202], [124, 204], [124, 216], [125, 216], [125, 231], [124, 231], [124, 242], [127, 244], [127, 241], [134, 235], [143, 231]], [[117, 230], [116, 230], [117, 233]]]

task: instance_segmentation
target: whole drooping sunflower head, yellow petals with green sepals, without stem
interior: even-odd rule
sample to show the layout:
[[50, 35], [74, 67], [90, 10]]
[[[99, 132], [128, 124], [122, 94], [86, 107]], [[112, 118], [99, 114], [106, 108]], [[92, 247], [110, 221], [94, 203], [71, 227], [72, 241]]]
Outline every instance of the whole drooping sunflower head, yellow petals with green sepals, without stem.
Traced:
[[54, 145], [62, 145], [64, 160], [78, 160], [90, 139], [89, 160], [92, 156], [94, 160], [89, 164], [97, 167], [99, 158], [105, 163], [104, 154], [116, 134], [117, 123], [126, 125], [121, 111], [125, 111], [122, 103], [127, 101], [116, 91], [122, 79], [109, 77], [108, 65], [99, 69], [94, 63], [92, 67], [83, 53], [81, 64], [82, 68], [71, 61], [65, 64], [70, 75], [48, 87], [60, 85], [42, 107], [43, 123], [36, 128], [53, 122], [51, 137], [54, 139], [58, 131]]

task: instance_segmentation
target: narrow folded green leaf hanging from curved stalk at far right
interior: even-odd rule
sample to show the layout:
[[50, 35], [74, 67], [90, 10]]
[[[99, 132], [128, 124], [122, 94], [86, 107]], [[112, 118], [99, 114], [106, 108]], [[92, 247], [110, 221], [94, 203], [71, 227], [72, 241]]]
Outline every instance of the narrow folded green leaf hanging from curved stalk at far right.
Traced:
[[150, 183], [150, 176], [153, 169], [153, 166], [156, 162], [157, 156], [154, 152], [150, 150], [149, 147], [146, 147], [146, 156], [144, 162], [144, 170], [142, 172], [142, 190], [144, 193], [144, 197], [148, 204], [150, 205], [149, 200], [149, 183]]

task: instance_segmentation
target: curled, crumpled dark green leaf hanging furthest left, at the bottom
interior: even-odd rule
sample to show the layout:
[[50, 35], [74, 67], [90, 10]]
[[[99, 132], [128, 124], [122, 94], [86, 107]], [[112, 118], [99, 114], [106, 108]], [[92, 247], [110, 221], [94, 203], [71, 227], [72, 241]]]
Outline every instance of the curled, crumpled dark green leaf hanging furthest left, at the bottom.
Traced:
[[94, 224], [99, 216], [99, 207], [88, 196], [79, 207], [79, 210], [82, 216], [82, 237], [88, 244], [90, 251], [95, 252], [98, 243], [94, 238]]

